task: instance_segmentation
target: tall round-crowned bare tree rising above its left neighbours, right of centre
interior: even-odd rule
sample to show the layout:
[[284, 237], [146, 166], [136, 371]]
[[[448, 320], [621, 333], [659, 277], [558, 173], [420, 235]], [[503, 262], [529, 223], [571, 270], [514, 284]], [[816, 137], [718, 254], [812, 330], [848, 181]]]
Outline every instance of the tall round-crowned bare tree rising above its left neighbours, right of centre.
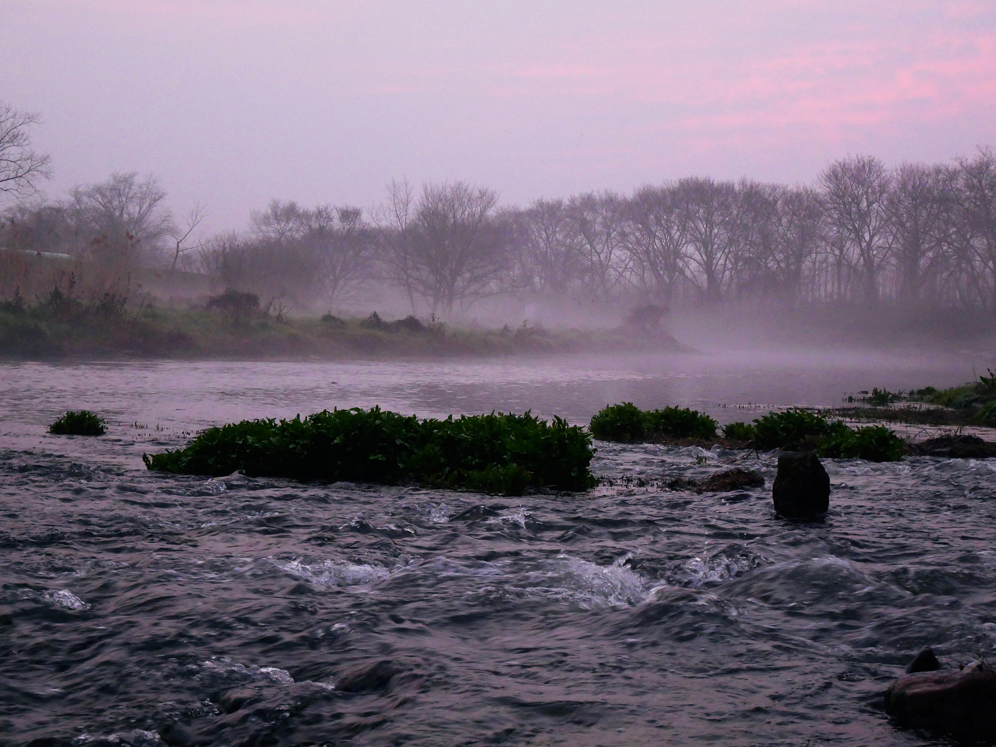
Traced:
[[820, 175], [831, 228], [861, 279], [865, 303], [878, 301], [878, 275], [891, 249], [892, 180], [873, 156], [831, 163]]

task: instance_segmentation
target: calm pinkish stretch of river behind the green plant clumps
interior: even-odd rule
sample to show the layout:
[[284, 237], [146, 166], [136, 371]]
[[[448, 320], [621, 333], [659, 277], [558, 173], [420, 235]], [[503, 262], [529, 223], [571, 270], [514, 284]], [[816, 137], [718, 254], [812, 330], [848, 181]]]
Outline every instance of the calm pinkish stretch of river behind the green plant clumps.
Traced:
[[[405, 414], [532, 410], [586, 424], [608, 403], [678, 404], [720, 423], [737, 405], [836, 406], [848, 392], [951, 386], [984, 371], [985, 354], [767, 349], [436, 362], [128, 362], [3, 364], [5, 421], [42, 428], [68, 408], [99, 410], [167, 432], [251, 417], [379, 405]], [[733, 405], [731, 409], [730, 405]]]

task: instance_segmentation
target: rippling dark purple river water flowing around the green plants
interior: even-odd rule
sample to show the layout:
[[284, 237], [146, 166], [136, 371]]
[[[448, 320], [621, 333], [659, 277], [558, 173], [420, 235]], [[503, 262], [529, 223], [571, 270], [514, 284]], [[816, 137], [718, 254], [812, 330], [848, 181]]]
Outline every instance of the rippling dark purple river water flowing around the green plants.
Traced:
[[[750, 419], [971, 364], [2, 365], [0, 744], [948, 744], [894, 727], [880, 696], [923, 646], [996, 655], [996, 460], [828, 460], [831, 512], [800, 524], [773, 515], [768, 457], [718, 446], [597, 443], [615, 485], [523, 498], [166, 476], [139, 457], [334, 405], [587, 422], [631, 399]], [[80, 407], [109, 434], [45, 433]], [[767, 484], [652, 484], [734, 465]]]

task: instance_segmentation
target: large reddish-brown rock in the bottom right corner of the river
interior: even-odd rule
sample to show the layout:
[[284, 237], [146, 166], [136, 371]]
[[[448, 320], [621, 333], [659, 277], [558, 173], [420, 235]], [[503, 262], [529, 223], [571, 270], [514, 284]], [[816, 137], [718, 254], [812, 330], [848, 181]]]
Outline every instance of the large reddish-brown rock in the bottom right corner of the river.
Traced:
[[963, 669], [903, 674], [885, 691], [885, 712], [903, 726], [996, 737], [996, 671], [973, 661]]

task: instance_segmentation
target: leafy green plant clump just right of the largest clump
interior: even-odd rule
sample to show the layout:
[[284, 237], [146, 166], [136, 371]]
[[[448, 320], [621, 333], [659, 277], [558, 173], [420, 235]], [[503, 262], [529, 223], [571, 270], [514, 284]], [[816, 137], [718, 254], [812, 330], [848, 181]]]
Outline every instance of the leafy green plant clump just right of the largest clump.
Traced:
[[609, 404], [589, 424], [604, 441], [653, 441], [661, 438], [712, 438], [716, 421], [688, 407], [641, 410], [632, 402]]

